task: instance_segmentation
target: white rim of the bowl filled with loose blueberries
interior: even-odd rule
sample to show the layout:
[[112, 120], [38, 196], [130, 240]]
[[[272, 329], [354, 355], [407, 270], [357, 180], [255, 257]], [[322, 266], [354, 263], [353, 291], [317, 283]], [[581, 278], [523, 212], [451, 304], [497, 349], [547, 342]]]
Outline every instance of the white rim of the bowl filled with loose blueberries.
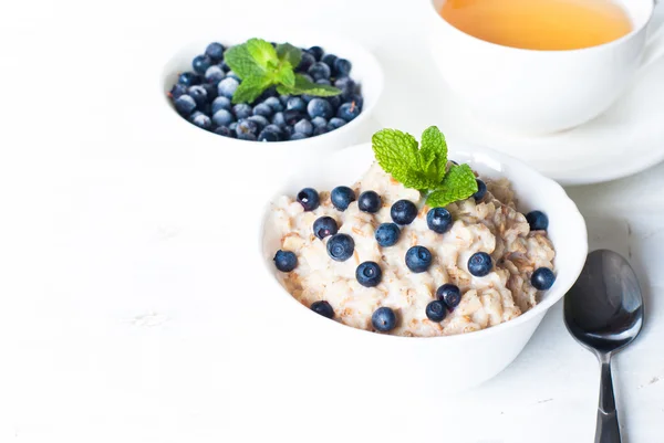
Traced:
[[[230, 33], [232, 34], [235, 31], [231, 31]], [[266, 32], [269, 35], [274, 34], [274, 32], [268, 31]], [[278, 32], [276, 33], [278, 35], [280, 35]], [[217, 39], [215, 40], [215, 38], [210, 38], [210, 39], [196, 39], [196, 40], [191, 40], [188, 41], [187, 43], [184, 43], [181, 45], [179, 45], [177, 48], [176, 51], [174, 51], [170, 56], [168, 57], [168, 60], [166, 60], [163, 64], [162, 64], [162, 70], [160, 70], [160, 81], [158, 83], [159, 87], [157, 93], [159, 94], [159, 96], [162, 97], [163, 103], [166, 105], [167, 114], [170, 114], [172, 116], [175, 116], [176, 119], [179, 123], [184, 123], [186, 124], [186, 126], [190, 126], [190, 129], [196, 129], [197, 131], [200, 133], [207, 133], [208, 136], [215, 136], [215, 137], [220, 137], [222, 143], [237, 143], [237, 144], [242, 144], [242, 147], [247, 148], [247, 147], [251, 147], [251, 146], [257, 146], [257, 147], [262, 147], [262, 148], [267, 148], [267, 147], [284, 147], [284, 146], [302, 146], [305, 143], [315, 143], [315, 141], [325, 141], [329, 140], [331, 138], [333, 138], [334, 136], [343, 136], [344, 134], [352, 131], [356, 128], [359, 128], [361, 126], [361, 124], [363, 122], [365, 122], [367, 118], [370, 118], [371, 114], [373, 113], [376, 104], [378, 103], [380, 98], [383, 95], [383, 91], [384, 91], [384, 85], [385, 85], [385, 74], [383, 71], [383, 66], [381, 65], [381, 63], [378, 62], [378, 60], [376, 59], [376, 56], [369, 51], [364, 45], [362, 44], [357, 44], [355, 42], [352, 42], [349, 39], [335, 35], [335, 34], [331, 34], [331, 33], [313, 33], [312, 35], [314, 35], [311, 40], [315, 41], [318, 39], [322, 40], [322, 41], [326, 41], [329, 43], [332, 43], [332, 45], [334, 45], [334, 42], [339, 42], [340, 45], [342, 46], [354, 46], [355, 51], [359, 51], [362, 53], [362, 64], [365, 65], [370, 65], [370, 70], [367, 71], [373, 71], [375, 72], [375, 78], [372, 77], [371, 82], [373, 84], [373, 87], [375, 87], [376, 94], [375, 94], [375, 98], [373, 101], [370, 101], [369, 103], [366, 102], [366, 97], [364, 96], [364, 94], [362, 94], [362, 99], [363, 99], [363, 104], [362, 104], [362, 112], [357, 115], [357, 117], [355, 117], [354, 119], [352, 119], [351, 122], [346, 123], [345, 125], [343, 125], [342, 127], [331, 130], [329, 133], [325, 134], [321, 134], [314, 137], [308, 137], [308, 138], [303, 138], [300, 140], [280, 140], [280, 141], [269, 141], [269, 143], [260, 143], [260, 141], [253, 141], [253, 140], [241, 140], [238, 138], [231, 138], [231, 137], [224, 137], [220, 136], [218, 134], [215, 134], [212, 131], [199, 128], [198, 126], [191, 124], [189, 120], [187, 120], [186, 118], [184, 118], [183, 116], [180, 116], [177, 110], [175, 110], [175, 107], [173, 105], [173, 103], [170, 102], [170, 99], [167, 96], [167, 91], [170, 89], [170, 87], [173, 87], [173, 85], [169, 84], [169, 82], [167, 82], [167, 78], [170, 75], [174, 75], [175, 73], [172, 72], [169, 70], [169, 66], [172, 64], [175, 64], [174, 61], [176, 59], [179, 59], [179, 56], [187, 52], [189, 48], [191, 48], [193, 45], [198, 45], [200, 44], [200, 48], [203, 48], [203, 50], [205, 49], [205, 46], [207, 44], [209, 44], [210, 42], [214, 41], [224, 41], [224, 39]], [[230, 39], [227, 39], [230, 40]], [[239, 39], [241, 40], [241, 39]], [[271, 41], [274, 40], [283, 40], [283, 38], [281, 39], [269, 39]], [[298, 39], [295, 39], [297, 41]], [[237, 43], [236, 43], [237, 44]], [[325, 46], [325, 43], [317, 43], [315, 45], [321, 45], [321, 46]], [[300, 48], [305, 46], [305, 45], [299, 45]], [[351, 63], [353, 63], [354, 66], [354, 61], [351, 60]], [[362, 84], [364, 82], [360, 83], [360, 86], [362, 87]], [[218, 138], [217, 138], [218, 139]], [[267, 145], [267, 147], [264, 146]]]

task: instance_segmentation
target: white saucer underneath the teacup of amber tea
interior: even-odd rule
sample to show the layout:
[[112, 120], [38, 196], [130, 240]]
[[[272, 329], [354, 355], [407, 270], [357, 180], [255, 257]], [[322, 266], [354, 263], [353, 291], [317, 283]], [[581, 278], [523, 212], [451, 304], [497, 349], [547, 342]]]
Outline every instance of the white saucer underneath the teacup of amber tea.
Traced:
[[376, 116], [385, 126], [418, 137], [427, 126], [437, 125], [450, 139], [509, 154], [561, 184], [614, 180], [664, 160], [664, 60], [639, 75], [595, 120], [554, 135], [522, 136], [473, 118], [440, 80], [424, 42], [400, 50], [394, 41], [390, 43], [376, 49], [387, 75], [386, 95]]

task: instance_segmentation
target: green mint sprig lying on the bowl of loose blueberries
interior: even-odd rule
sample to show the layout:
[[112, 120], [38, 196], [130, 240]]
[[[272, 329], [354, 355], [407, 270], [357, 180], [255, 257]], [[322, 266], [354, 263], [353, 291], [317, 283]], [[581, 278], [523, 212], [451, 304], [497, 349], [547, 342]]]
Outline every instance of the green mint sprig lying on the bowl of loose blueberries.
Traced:
[[270, 86], [277, 86], [279, 94], [309, 94], [329, 97], [341, 94], [336, 87], [319, 85], [295, 74], [302, 60], [302, 51], [290, 43], [273, 48], [261, 39], [250, 39], [246, 43], [229, 48], [224, 59], [230, 68], [242, 80], [232, 103], [251, 103]]

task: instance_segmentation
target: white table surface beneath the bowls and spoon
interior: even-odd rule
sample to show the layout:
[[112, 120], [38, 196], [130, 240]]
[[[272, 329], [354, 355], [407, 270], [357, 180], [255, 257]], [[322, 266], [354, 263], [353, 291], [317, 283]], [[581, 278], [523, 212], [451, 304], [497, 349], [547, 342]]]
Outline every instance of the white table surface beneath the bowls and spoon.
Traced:
[[[432, 399], [395, 380], [372, 399], [304, 373], [305, 351], [288, 347], [294, 333], [272, 321], [260, 282], [234, 260], [246, 246], [241, 192], [155, 116], [164, 48], [203, 30], [224, 35], [226, 20], [279, 20], [364, 42], [386, 68], [376, 119], [422, 130], [436, 124], [436, 85], [414, 86], [434, 68], [415, 3], [3, 8], [1, 442], [593, 441], [599, 370], [560, 304], [513, 365], [463, 394]], [[627, 443], [664, 441], [663, 188], [660, 165], [569, 189], [591, 246], [629, 256], [645, 292], [642, 336], [614, 361]]]

